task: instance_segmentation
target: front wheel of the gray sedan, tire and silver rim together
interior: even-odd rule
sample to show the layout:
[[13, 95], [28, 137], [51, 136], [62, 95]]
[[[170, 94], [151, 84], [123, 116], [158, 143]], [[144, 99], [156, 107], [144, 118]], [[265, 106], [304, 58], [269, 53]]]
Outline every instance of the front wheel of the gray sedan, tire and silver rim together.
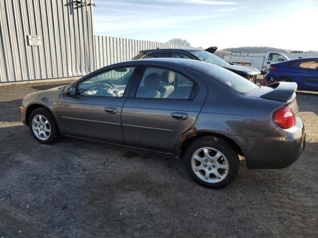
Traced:
[[33, 137], [40, 143], [51, 144], [58, 138], [55, 119], [45, 108], [36, 109], [30, 114], [29, 127]]

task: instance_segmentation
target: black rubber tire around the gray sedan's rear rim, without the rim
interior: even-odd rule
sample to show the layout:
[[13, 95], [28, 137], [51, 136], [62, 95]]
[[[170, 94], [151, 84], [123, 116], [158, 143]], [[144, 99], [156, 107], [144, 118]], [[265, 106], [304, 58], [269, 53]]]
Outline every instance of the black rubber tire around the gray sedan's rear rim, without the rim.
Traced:
[[[228, 172], [227, 172], [227, 175], [222, 180], [217, 182], [208, 182], [203, 179], [200, 179], [196, 175], [196, 173], [193, 171], [192, 164], [191, 164], [192, 156], [194, 156], [194, 153], [197, 152], [200, 148], [204, 148], [204, 147], [213, 148], [221, 152], [226, 157], [226, 160], [228, 162]], [[221, 157], [221, 160], [223, 160], [222, 157]], [[209, 164], [210, 164], [209, 166], [211, 166], [211, 163]], [[199, 183], [200, 185], [204, 187], [217, 189], [217, 188], [226, 187], [235, 180], [239, 172], [239, 156], [235, 152], [235, 150], [229, 145], [229, 143], [227, 143], [224, 139], [219, 137], [214, 137], [214, 136], [203, 136], [193, 141], [190, 144], [190, 146], [187, 148], [185, 152], [185, 156], [184, 156], [184, 165], [189, 176], [193, 180], [195, 180], [197, 183]]]

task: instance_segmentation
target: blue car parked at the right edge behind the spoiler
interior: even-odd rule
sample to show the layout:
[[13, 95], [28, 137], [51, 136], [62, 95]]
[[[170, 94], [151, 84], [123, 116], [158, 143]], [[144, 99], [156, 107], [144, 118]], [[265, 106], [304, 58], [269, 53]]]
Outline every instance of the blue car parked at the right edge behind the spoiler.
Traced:
[[318, 91], [318, 57], [273, 63], [261, 85], [286, 81], [295, 82], [297, 90]]

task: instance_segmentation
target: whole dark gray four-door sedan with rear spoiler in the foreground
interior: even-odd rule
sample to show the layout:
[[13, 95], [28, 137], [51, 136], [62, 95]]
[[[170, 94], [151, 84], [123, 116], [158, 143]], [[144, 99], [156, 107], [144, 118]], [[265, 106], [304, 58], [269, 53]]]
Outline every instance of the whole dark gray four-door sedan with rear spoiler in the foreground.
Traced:
[[285, 168], [305, 147], [296, 83], [257, 86], [207, 62], [145, 59], [109, 65], [29, 94], [21, 119], [40, 143], [59, 136], [175, 154], [192, 179], [230, 184], [250, 169]]

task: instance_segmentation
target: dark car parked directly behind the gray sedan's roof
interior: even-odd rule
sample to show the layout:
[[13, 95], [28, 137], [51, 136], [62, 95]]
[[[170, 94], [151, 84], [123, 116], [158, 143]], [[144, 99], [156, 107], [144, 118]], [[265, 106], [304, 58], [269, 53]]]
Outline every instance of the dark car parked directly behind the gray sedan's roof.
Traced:
[[256, 75], [261, 72], [253, 67], [234, 64], [221, 59], [213, 53], [217, 50], [217, 47], [210, 47], [206, 50], [194, 50], [194, 49], [153, 49], [140, 51], [137, 56], [132, 60], [147, 59], [147, 58], [179, 58], [179, 59], [191, 59], [201, 60], [208, 63], [221, 66], [229, 69], [232, 72], [239, 74], [240, 76], [256, 82]]

